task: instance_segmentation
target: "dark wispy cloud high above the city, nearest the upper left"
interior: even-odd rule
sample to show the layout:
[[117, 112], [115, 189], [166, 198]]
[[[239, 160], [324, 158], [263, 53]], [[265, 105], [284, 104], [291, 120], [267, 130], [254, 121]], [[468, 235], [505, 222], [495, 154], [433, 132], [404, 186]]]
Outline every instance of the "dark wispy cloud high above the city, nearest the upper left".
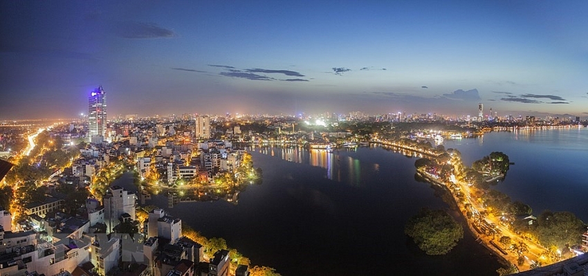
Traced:
[[118, 37], [129, 39], [154, 39], [176, 36], [173, 30], [161, 28], [154, 23], [136, 21], [119, 21], [114, 24], [113, 30]]

